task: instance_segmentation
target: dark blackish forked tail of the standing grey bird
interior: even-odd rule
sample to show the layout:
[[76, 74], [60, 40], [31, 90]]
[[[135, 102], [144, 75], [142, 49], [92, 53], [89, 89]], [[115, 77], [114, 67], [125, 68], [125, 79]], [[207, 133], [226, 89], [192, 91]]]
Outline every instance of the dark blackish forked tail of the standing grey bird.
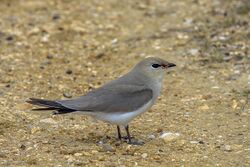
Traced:
[[66, 113], [71, 113], [71, 112], [76, 111], [76, 110], [64, 107], [60, 103], [58, 103], [56, 101], [52, 101], [52, 100], [30, 98], [26, 102], [33, 104], [33, 105], [43, 107], [43, 108], [33, 109], [33, 110], [37, 110], [37, 111], [42, 111], [42, 110], [55, 110], [55, 111], [57, 111], [54, 114], [66, 114]]

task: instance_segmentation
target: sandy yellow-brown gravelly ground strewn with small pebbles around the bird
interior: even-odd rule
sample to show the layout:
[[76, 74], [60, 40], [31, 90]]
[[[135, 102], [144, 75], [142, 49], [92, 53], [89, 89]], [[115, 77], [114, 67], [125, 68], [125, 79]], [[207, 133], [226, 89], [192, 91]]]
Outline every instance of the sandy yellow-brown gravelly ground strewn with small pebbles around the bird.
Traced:
[[[250, 166], [249, 19], [248, 0], [0, 1], [0, 166]], [[177, 67], [131, 122], [143, 146], [25, 103], [82, 95], [147, 56]]]

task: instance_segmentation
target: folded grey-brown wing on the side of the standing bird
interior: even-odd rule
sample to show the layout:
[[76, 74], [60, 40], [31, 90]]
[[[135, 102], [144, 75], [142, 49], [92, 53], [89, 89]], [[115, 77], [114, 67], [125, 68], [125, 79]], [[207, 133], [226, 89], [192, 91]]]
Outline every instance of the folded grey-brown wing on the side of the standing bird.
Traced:
[[101, 87], [79, 98], [56, 102], [78, 111], [128, 112], [142, 107], [152, 97], [152, 90], [145, 86], [112, 85]]

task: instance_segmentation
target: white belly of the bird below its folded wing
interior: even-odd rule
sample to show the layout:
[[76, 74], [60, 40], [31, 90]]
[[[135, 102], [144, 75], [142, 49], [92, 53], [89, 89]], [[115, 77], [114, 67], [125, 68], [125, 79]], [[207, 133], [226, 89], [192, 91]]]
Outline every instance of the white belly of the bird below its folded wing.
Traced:
[[152, 105], [153, 105], [153, 100], [149, 101], [147, 104], [145, 104], [143, 107], [139, 108], [138, 110], [131, 111], [128, 113], [118, 113], [118, 112], [101, 113], [101, 112], [98, 112], [98, 113], [91, 114], [91, 116], [93, 116], [94, 118], [96, 118], [98, 120], [109, 122], [111, 124], [126, 126], [133, 118], [135, 118], [136, 116], [147, 111]]

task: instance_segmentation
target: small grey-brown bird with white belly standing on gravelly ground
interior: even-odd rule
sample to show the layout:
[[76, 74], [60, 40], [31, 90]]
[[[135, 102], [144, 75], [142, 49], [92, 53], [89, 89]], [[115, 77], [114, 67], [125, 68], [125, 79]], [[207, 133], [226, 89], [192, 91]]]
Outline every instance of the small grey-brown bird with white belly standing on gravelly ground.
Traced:
[[148, 57], [138, 62], [129, 72], [85, 95], [63, 100], [29, 98], [26, 102], [40, 106], [34, 110], [54, 110], [54, 114], [80, 112], [117, 126], [118, 139], [131, 140], [129, 123], [149, 110], [160, 95], [166, 70], [176, 66], [159, 57]]

